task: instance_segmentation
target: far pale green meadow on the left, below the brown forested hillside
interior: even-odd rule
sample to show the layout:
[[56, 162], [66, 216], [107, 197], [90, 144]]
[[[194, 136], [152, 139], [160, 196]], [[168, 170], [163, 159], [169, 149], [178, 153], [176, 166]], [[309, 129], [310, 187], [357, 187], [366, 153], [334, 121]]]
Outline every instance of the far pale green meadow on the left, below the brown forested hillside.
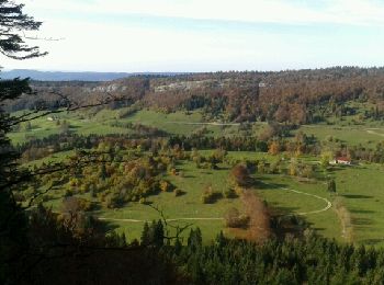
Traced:
[[[13, 115], [21, 115], [22, 112]], [[56, 121], [48, 121], [49, 116], [44, 116], [32, 122], [32, 128], [25, 129], [26, 124], [22, 124], [16, 132], [9, 134], [13, 144], [20, 144], [31, 138], [44, 138], [49, 135], [59, 134], [60, 126], [57, 119], [69, 124], [69, 130], [75, 134], [89, 135], [108, 135], [108, 134], [132, 134], [132, 129], [124, 127], [111, 126], [116, 122], [118, 112], [111, 110], [102, 110], [95, 115], [88, 113], [59, 113], [55, 115]], [[200, 112], [184, 113], [176, 112], [171, 114], [158, 113], [155, 111], [142, 110], [133, 115], [118, 118], [118, 123], [139, 123], [142, 125], [156, 127], [169, 134], [191, 135], [194, 132], [205, 129], [204, 134], [208, 136], [229, 136], [238, 134], [238, 126], [218, 126], [205, 125]], [[202, 124], [203, 123], [203, 124]]]

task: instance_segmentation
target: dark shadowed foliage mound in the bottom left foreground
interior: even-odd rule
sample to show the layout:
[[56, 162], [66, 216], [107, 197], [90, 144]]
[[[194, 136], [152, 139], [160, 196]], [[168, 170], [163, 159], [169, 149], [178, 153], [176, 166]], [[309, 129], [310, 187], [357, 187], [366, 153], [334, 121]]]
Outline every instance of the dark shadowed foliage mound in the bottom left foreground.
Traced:
[[183, 284], [158, 250], [128, 243], [124, 235], [105, 236], [98, 220], [81, 231], [77, 223], [61, 223], [38, 206], [30, 218], [30, 252], [9, 284]]

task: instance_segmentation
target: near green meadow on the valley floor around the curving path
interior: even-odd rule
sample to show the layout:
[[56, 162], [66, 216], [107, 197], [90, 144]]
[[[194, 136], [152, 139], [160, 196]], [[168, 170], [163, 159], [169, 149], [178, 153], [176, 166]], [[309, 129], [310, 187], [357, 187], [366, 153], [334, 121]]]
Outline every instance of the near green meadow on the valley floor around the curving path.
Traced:
[[[210, 155], [212, 151], [200, 151], [202, 155]], [[53, 158], [35, 161], [61, 160], [70, 152], [55, 153]], [[275, 157], [262, 152], [231, 151], [228, 157], [233, 159], [266, 159], [272, 161]], [[314, 158], [305, 158], [312, 160]], [[165, 216], [170, 219], [178, 218], [222, 218], [230, 207], [241, 209], [239, 198], [218, 200], [214, 204], [203, 204], [200, 200], [204, 186], [212, 185], [214, 190], [222, 192], [228, 184], [228, 166], [222, 164], [219, 170], [197, 169], [194, 163], [181, 161], [178, 170], [183, 175], [169, 179], [172, 184], [184, 192], [183, 195], [174, 197], [173, 193], [160, 193], [150, 196], [151, 205], [159, 207]], [[352, 241], [363, 244], [384, 246], [384, 167], [381, 164], [363, 164], [353, 167], [339, 167], [329, 172], [337, 184], [337, 196], [351, 214]], [[283, 190], [285, 187], [315, 194], [332, 202], [335, 195], [327, 192], [327, 185], [321, 181], [301, 182], [295, 178], [276, 174], [256, 174], [257, 181], [255, 191], [267, 201], [268, 205], [280, 213], [290, 215], [321, 209], [326, 203], [312, 196], [302, 195]], [[49, 202], [55, 209], [59, 210], [61, 198], [56, 193], [56, 200]], [[89, 196], [87, 196], [90, 198]], [[95, 212], [97, 216], [110, 219], [158, 219], [159, 213], [149, 206], [139, 203], [129, 203], [118, 209], [101, 209]], [[303, 216], [318, 233], [342, 241], [341, 225], [334, 208], [328, 210], [308, 214]], [[109, 221], [110, 226], [117, 231], [124, 231], [131, 238], [139, 238], [143, 223], [115, 220]], [[189, 220], [177, 221], [178, 225], [192, 223], [203, 230], [206, 242], [212, 240], [221, 230], [227, 231], [223, 220]], [[171, 223], [172, 224], [172, 223]]]

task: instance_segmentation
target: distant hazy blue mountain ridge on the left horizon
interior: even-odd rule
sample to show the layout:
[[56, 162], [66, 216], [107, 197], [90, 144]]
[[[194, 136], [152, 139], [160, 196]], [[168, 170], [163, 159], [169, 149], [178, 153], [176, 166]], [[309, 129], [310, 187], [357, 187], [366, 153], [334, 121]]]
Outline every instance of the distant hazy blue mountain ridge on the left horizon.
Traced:
[[37, 81], [112, 81], [133, 76], [177, 76], [182, 72], [67, 72], [67, 71], [38, 71], [32, 69], [13, 69], [1, 71], [1, 79], [31, 78]]

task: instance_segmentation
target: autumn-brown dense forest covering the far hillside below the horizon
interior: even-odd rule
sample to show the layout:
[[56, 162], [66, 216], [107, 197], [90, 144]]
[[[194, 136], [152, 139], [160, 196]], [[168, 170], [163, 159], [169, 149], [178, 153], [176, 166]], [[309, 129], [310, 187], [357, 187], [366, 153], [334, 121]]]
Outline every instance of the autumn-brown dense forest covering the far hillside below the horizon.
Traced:
[[[7, 110], [66, 106], [75, 102], [99, 102], [105, 94], [126, 100], [110, 107], [139, 104], [162, 112], [203, 109], [206, 119], [223, 122], [275, 121], [306, 124], [327, 115], [353, 114], [348, 101], [369, 102], [375, 107], [366, 116], [384, 115], [382, 68], [336, 67], [281, 72], [216, 72], [185, 76], [137, 76], [106, 83], [32, 82], [38, 95], [21, 98]], [[58, 95], [59, 94], [59, 95]], [[124, 116], [126, 114], [122, 114]]]

